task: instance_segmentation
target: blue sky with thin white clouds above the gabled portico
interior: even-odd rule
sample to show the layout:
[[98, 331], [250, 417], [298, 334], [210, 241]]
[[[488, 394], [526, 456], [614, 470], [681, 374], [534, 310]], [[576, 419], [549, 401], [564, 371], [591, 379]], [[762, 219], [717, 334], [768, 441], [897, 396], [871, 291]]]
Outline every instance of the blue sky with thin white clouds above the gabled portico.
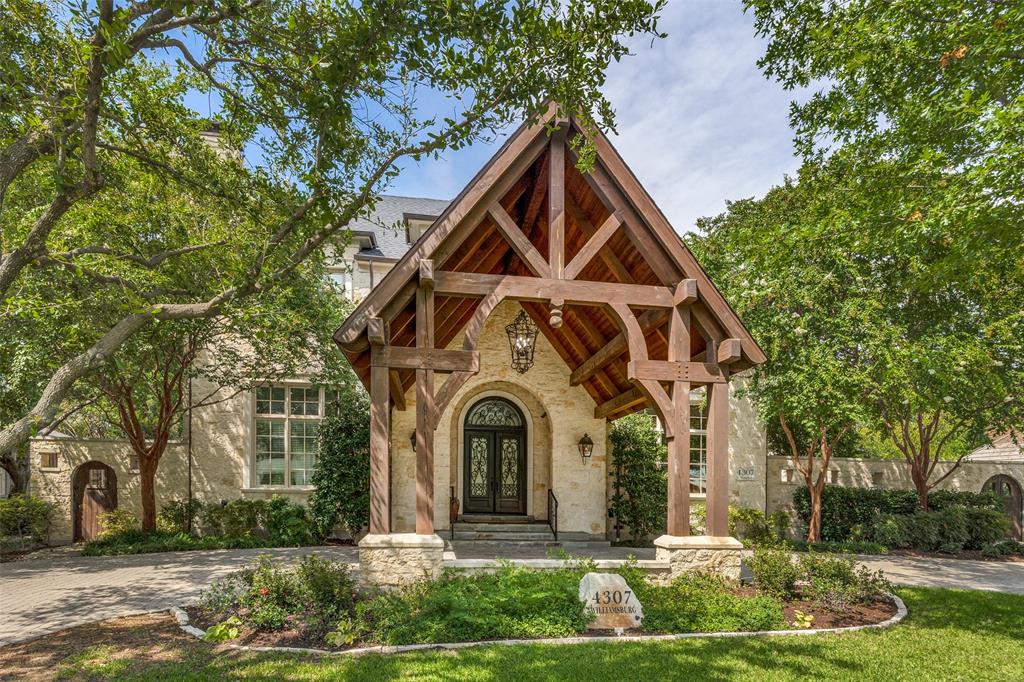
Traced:
[[[792, 92], [764, 78], [764, 41], [738, 0], [670, 0], [666, 40], [636, 41], [613, 65], [605, 94], [612, 141], [680, 232], [726, 200], [761, 196], [799, 167], [788, 125]], [[413, 165], [389, 194], [451, 199], [497, 151], [476, 144]]]

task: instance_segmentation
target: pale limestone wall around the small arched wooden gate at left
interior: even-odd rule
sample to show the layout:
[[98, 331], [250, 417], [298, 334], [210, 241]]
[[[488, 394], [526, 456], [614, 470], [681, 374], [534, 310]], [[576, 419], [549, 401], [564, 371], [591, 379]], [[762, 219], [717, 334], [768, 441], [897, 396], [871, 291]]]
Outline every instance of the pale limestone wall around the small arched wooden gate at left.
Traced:
[[[43, 452], [57, 454], [56, 469], [41, 469]], [[33, 440], [30, 447], [32, 474], [29, 492], [56, 507], [51, 544], [72, 541], [72, 480], [79, 466], [99, 461], [114, 469], [118, 483], [118, 508], [141, 514], [138, 472], [131, 471], [131, 447], [118, 440], [71, 440], [48, 438]], [[180, 442], [167, 446], [157, 471], [157, 508], [167, 501], [187, 497], [187, 449]]]

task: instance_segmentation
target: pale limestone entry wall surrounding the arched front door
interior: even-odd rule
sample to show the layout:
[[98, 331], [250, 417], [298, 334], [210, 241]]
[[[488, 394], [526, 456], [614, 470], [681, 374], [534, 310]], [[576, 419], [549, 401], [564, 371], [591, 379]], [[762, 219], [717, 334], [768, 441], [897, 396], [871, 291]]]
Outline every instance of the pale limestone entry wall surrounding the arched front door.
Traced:
[[[509, 367], [505, 326], [521, 307], [505, 301], [495, 308], [480, 335], [480, 372], [466, 382], [441, 416], [434, 434], [434, 525], [450, 527], [449, 492], [462, 498], [462, 420], [466, 411], [487, 395], [502, 395], [523, 412], [527, 426], [527, 513], [547, 518], [547, 491], [558, 498], [559, 532], [604, 537], [607, 532], [606, 424], [594, 418], [594, 400], [581, 386], [569, 385], [569, 369], [544, 338], [538, 336], [534, 367], [524, 375]], [[451, 348], [462, 347], [461, 336]], [[438, 381], [442, 381], [438, 377]], [[416, 390], [406, 395], [407, 409], [391, 413], [391, 523], [394, 532], [416, 527], [416, 454], [410, 436], [416, 431]], [[594, 454], [581, 462], [577, 443], [584, 433], [594, 440]]]

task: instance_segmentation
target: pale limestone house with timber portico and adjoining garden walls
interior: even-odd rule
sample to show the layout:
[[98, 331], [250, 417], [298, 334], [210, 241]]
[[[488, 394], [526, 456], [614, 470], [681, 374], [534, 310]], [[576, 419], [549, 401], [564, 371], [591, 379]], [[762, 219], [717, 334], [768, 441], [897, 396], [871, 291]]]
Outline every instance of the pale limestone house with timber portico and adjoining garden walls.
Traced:
[[[383, 197], [331, 263], [359, 302], [336, 339], [375, 403], [373, 532], [501, 540], [455, 524], [536, 520], [545, 525], [527, 527], [545, 538], [606, 543], [622, 530], [608, 514], [610, 420], [645, 409], [672, 436], [673, 536], [691, 502], [712, 508], [719, 538], [726, 503], [790, 506], [802, 480], [768, 456], [753, 406], [735, 397], [763, 358], [757, 344], [607, 140], [586, 177], [553, 140], [520, 129], [452, 203]], [[219, 389], [191, 390], [198, 401]], [[168, 446], [158, 506], [304, 501], [328, 391], [297, 376], [224, 397]], [[946, 485], [1019, 494], [1015, 457], [976, 453]], [[31, 491], [60, 511], [57, 541], [94, 531], [82, 518], [100, 509], [86, 506], [138, 509], [123, 441], [37, 439], [32, 466]], [[909, 486], [901, 462], [834, 459], [828, 476]]]

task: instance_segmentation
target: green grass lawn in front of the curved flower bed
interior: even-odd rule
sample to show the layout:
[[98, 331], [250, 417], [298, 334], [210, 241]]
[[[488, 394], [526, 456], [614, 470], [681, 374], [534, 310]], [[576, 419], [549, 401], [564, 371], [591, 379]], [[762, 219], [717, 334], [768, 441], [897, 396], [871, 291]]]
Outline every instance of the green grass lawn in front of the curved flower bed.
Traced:
[[1024, 680], [1024, 596], [904, 589], [910, 615], [884, 631], [574, 646], [485, 647], [361, 658], [189, 645], [166, 662], [98, 646], [57, 666], [71, 679], [142, 680]]

